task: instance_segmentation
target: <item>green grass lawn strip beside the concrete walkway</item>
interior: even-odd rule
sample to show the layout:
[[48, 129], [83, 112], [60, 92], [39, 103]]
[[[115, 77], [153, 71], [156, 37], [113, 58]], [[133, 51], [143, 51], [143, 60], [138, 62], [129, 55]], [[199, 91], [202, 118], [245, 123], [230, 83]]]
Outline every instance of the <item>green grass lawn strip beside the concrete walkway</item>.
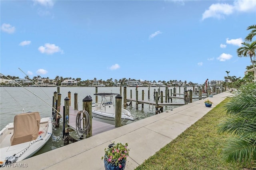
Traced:
[[[225, 99], [176, 139], [144, 161], [136, 170], [242, 170], [222, 158], [227, 135], [217, 134], [226, 116]], [[248, 168], [248, 167], [247, 167]]]

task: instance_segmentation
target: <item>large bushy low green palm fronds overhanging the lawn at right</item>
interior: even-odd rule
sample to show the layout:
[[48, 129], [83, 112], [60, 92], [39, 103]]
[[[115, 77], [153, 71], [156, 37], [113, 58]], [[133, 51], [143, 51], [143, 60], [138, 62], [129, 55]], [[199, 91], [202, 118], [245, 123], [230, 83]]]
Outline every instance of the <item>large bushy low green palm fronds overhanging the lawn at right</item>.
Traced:
[[228, 162], [256, 160], [256, 82], [241, 86], [226, 104], [227, 118], [218, 133], [233, 135], [223, 148]]

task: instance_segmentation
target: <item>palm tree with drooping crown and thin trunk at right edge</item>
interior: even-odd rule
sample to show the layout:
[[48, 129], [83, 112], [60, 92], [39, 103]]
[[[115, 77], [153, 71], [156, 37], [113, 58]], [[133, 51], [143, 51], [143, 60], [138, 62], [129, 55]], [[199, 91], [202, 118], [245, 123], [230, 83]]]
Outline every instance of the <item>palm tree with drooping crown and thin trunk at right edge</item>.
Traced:
[[236, 53], [238, 57], [250, 57], [252, 67], [254, 70], [254, 80], [256, 80], [256, 69], [255, 69], [255, 51], [256, 51], [256, 41], [253, 41], [252, 43], [241, 43], [244, 45], [243, 47], [240, 47], [236, 50]]

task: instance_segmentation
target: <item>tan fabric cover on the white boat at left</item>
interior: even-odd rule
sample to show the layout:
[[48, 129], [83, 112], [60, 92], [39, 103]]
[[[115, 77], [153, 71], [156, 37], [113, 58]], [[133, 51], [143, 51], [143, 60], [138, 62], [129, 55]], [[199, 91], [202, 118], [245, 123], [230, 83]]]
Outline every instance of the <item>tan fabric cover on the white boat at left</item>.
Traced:
[[40, 127], [38, 112], [21, 113], [14, 116], [14, 131], [11, 137], [11, 146], [36, 140]]

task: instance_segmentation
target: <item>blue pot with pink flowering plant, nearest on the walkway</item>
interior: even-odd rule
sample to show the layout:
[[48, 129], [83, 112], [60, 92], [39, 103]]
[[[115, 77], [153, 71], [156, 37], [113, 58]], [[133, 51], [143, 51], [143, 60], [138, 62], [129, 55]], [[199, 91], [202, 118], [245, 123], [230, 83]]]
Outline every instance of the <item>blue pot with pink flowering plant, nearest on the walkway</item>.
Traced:
[[112, 143], [105, 148], [104, 166], [106, 170], [124, 170], [129, 155], [128, 143]]

